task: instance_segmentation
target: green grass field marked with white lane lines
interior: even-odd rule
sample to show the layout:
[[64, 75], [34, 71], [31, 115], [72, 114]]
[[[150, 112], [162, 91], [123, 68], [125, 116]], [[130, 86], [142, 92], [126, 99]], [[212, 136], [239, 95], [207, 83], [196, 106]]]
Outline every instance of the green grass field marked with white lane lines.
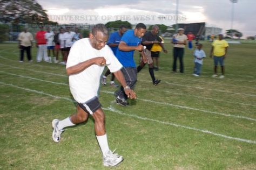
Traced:
[[[210, 58], [193, 77], [188, 49], [185, 74], [171, 73], [166, 48], [161, 83], [153, 86], [144, 68], [129, 107], [115, 104], [116, 88], [100, 87], [110, 148], [124, 157], [114, 169], [256, 169], [255, 44], [230, 45], [225, 79], [211, 77]], [[203, 48], [208, 55], [210, 43]], [[34, 62], [19, 63], [18, 52], [0, 44], [0, 169], [107, 169], [92, 118], [52, 141], [52, 119], [76, 112], [65, 67], [35, 62], [36, 48]]]

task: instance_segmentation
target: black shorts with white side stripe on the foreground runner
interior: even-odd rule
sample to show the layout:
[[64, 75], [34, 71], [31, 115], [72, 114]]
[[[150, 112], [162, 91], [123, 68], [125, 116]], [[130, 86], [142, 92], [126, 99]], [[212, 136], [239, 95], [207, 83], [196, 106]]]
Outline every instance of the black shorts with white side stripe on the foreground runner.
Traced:
[[93, 97], [91, 100], [85, 103], [78, 103], [78, 105], [90, 115], [92, 115], [94, 112], [96, 112], [96, 110], [102, 107], [102, 105], [99, 103], [97, 96]]

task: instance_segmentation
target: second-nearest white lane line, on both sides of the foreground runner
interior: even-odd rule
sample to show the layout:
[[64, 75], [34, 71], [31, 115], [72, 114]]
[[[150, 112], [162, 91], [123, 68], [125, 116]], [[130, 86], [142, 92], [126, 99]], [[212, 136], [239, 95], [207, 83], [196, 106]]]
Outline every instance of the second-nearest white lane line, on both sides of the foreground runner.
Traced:
[[[6, 72], [2, 72], [2, 71], [0, 71], [0, 73], [5, 73], [5, 74], [9, 74], [9, 75], [14, 75], [14, 76], [20, 76], [20, 77], [23, 77], [23, 78], [26, 78], [26, 79], [32, 79], [32, 80], [37, 80], [37, 81], [43, 81], [43, 82], [49, 82], [49, 83], [53, 83], [53, 84], [61, 84], [61, 85], [64, 85], [64, 86], [69, 86], [69, 84], [66, 84], [66, 83], [46, 81], [46, 80], [37, 79], [37, 78], [29, 77], [29, 76], [22, 76], [22, 75], [17, 75], [17, 74], [12, 74], [12, 73], [6, 73]], [[105, 90], [101, 90], [101, 91], [103, 93], [113, 94], [112, 91], [105, 91]], [[222, 116], [226, 116], [226, 117], [242, 118], [242, 119], [248, 119], [250, 121], [256, 121], [256, 119], [254, 119], [254, 118], [245, 117], [245, 116], [224, 114], [224, 113], [219, 113], [219, 112], [214, 112], [214, 111], [208, 111], [208, 110], [202, 110], [202, 109], [197, 109], [197, 108], [191, 108], [191, 107], [186, 107], [186, 106], [176, 105], [176, 104], [171, 104], [171, 103], [156, 102], [156, 101], [145, 100], [145, 99], [140, 99], [140, 98], [138, 98], [138, 100], [142, 100], [142, 101], [145, 101], [145, 102], [156, 103], [156, 104], [169, 105], [169, 106], [177, 107], [177, 108], [181, 108], [181, 109], [197, 110], [197, 111], [201, 111], [201, 112], [206, 112], [206, 113], [216, 114], [216, 115], [222, 115]]]

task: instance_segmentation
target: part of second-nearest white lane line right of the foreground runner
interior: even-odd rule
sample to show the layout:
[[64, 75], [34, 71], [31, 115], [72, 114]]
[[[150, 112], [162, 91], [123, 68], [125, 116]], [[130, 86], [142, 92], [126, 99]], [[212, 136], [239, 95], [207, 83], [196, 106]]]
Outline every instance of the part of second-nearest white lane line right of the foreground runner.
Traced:
[[[106, 90], [100, 90], [100, 91], [102, 91], [103, 93], [107, 93], [107, 94], [114, 94], [112, 91], [106, 91]], [[250, 121], [256, 121], [256, 119], [250, 118], [250, 117], [224, 114], [224, 113], [220, 113], [220, 112], [197, 109], [197, 108], [191, 108], [191, 107], [186, 107], [186, 106], [183, 106], [183, 105], [177, 105], [177, 104], [172, 104], [172, 103], [157, 102], [157, 101], [147, 100], [147, 99], [143, 99], [143, 98], [137, 98], [137, 100], [141, 100], [141, 101], [144, 101], [144, 102], [155, 103], [155, 104], [161, 104], [161, 105], [169, 105], [171, 107], [176, 107], [176, 108], [181, 108], [181, 109], [196, 110], [196, 111], [201, 111], [201, 112], [205, 112], [205, 113], [209, 113], [209, 114], [221, 115], [221, 116], [226, 116], [226, 117], [234, 117], [234, 118], [247, 119], [247, 120], [250, 120]]]

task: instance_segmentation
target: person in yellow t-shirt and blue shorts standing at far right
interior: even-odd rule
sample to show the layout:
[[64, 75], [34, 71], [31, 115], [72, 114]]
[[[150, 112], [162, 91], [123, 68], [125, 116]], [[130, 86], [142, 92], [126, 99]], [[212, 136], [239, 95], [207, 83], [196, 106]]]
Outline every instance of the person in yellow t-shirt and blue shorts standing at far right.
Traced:
[[222, 75], [220, 78], [224, 78], [224, 72], [225, 72], [225, 67], [224, 67], [224, 59], [227, 54], [227, 48], [228, 48], [228, 43], [226, 40], [223, 39], [223, 34], [219, 34], [219, 40], [215, 40], [212, 42], [212, 49], [210, 53], [210, 57], [214, 59], [214, 74], [212, 77], [217, 77], [217, 66], [218, 63], [220, 63], [221, 66], [221, 73]]

